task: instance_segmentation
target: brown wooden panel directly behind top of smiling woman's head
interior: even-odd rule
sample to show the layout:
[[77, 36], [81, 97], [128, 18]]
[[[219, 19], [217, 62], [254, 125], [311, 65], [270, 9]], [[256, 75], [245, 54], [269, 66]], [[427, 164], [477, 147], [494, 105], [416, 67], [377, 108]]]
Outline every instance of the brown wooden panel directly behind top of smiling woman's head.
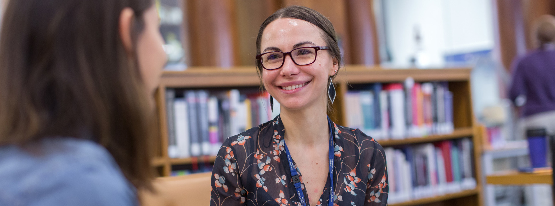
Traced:
[[344, 63], [351, 64], [351, 43], [347, 25], [347, 7], [345, 1], [339, 0], [284, 0], [283, 6], [299, 5], [309, 7], [320, 12], [334, 24], [335, 32], [339, 37], [340, 47], [343, 49]]

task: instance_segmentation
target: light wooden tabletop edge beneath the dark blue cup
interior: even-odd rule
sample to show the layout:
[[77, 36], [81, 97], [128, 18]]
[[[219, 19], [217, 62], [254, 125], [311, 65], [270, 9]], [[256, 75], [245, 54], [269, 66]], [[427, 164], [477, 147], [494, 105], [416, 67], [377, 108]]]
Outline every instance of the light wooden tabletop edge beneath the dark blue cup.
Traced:
[[552, 170], [542, 170], [532, 173], [517, 171], [498, 173], [486, 176], [486, 184], [553, 184]]

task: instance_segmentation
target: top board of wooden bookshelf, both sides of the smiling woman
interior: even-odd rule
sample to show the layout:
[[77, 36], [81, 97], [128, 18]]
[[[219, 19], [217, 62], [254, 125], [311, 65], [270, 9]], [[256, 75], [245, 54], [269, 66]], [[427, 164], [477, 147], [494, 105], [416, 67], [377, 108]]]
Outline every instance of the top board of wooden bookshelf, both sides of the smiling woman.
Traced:
[[[339, 73], [335, 83], [402, 82], [412, 77], [415, 81], [465, 81], [470, 69], [391, 69], [348, 65]], [[190, 67], [185, 71], [165, 71], [162, 84], [166, 87], [248, 87], [259, 86], [260, 80], [254, 66]]]

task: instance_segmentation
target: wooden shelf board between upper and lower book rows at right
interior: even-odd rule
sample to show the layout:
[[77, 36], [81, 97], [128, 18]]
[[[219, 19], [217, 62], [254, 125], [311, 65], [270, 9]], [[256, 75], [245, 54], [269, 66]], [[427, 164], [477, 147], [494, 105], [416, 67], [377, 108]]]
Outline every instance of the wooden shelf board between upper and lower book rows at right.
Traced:
[[415, 138], [406, 138], [406, 139], [379, 140], [378, 142], [382, 145], [382, 147], [391, 147], [391, 146], [403, 145], [403, 144], [428, 143], [428, 142], [436, 142], [436, 141], [448, 140], [448, 139], [472, 137], [472, 135], [473, 135], [472, 128], [466, 127], [466, 128], [457, 128], [451, 134], [428, 135], [426, 137], [415, 137]]

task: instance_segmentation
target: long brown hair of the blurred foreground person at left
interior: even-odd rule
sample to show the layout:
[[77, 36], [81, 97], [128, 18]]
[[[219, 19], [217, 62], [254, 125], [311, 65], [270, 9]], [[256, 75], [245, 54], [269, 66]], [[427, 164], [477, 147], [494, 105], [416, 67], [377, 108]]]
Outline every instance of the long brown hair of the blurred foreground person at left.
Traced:
[[126, 53], [119, 37], [124, 8], [134, 11], [136, 42], [152, 6], [152, 0], [9, 1], [0, 34], [0, 145], [91, 139], [135, 187], [152, 188], [152, 97], [136, 53]]

